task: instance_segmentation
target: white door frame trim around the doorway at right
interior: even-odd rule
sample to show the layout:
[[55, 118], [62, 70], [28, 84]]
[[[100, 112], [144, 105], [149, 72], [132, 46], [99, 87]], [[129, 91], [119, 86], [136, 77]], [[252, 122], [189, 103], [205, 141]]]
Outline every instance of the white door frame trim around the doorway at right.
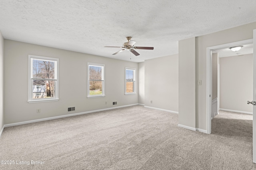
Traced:
[[[222, 45], [215, 45], [207, 47], [207, 59], [206, 59], [206, 133], [212, 133], [212, 50], [223, 49], [228, 47], [234, 47], [238, 45], [252, 44], [253, 39], [246, 39], [242, 41], [236, 41], [233, 43], [227, 43]], [[218, 99], [220, 100], [220, 99]], [[246, 101], [245, 101], [246, 102]]]

